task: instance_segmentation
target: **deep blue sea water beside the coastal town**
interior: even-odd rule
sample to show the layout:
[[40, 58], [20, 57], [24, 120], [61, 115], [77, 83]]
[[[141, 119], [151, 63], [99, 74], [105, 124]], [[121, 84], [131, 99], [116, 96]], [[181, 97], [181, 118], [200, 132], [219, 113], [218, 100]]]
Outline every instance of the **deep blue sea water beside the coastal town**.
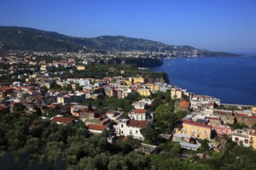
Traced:
[[256, 55], [164, 59], [154, 72], [168, 73], [170, 83], [225, 104], [256, 105]]

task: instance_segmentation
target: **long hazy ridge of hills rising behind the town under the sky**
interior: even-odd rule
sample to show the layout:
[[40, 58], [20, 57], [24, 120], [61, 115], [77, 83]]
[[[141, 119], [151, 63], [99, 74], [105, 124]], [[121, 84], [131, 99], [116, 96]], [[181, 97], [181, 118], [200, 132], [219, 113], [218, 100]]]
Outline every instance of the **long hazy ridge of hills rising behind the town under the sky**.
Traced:
[[176, 53], [198, 50], [199, 56], [234, 56], [230, 53], [212, 52], [195, 49], [192, 46], [170, 46], [147, 39], [135, 39], [126, 36], [99, 36], [96, 38], [79, 38], [16, 26], [0, 26], [0, 48], [34, 51], [78, 52], [108, 50], [108, 51], [168, 51]]

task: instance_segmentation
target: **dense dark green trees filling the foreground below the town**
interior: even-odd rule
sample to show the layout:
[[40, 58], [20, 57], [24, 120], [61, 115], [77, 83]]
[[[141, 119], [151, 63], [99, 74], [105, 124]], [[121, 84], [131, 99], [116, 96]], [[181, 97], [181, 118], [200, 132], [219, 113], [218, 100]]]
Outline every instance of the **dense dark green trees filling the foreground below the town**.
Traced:
[[[133, 138], [109, 144], [108, 132], [89, 134], [86, 128], [58, 125], [22, 114], [1, 114], [0, 166], [2, 169], [255, 169], [256, 151], [235, 146], [232, 141], [220, 153], [202, 148], [212, 155], [201, 160], [185, 158], [178, 143], [165, 141], [157, 155], [134, 152]], [[6, 124], [9, 122], [9, 124]], [[30, 126], [33, 124], [33, 126]], [[153, 135], [147, 136], [149, 139]]]

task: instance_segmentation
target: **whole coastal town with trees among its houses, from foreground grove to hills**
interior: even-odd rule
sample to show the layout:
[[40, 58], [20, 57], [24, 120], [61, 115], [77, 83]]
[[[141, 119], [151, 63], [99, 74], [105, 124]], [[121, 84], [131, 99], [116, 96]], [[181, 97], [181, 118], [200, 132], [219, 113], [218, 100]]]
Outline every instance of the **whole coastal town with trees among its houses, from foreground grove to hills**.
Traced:
[[188, 150], [185, 158], [195, 152], [212, 158], [206, 150], [218, 153], [232, 144], [256, 148], [255, 106], [188, 92], [126, 60], [161, 55], [166, 54], [2, 53], [0, 113], [33, 115], [30, 131], [42, 120], [105, 134], [109, 144], [134, 140], [133, 150], [146, 155], [165, 151], [166, 142], [179, 148], [177, 155]]

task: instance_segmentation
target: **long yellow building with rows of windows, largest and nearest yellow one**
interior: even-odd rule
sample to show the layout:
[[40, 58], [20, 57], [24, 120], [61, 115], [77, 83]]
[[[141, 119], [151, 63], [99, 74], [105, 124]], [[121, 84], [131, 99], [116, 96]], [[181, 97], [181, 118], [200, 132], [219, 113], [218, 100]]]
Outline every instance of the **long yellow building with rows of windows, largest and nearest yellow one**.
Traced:
[[212, 126], [208, 124], [199, 124], [197, 122], [183, 120], [182, 127], [176, 128], [175, 133], [189, 134], [194, 138], [210, 139], [212, 134]]

